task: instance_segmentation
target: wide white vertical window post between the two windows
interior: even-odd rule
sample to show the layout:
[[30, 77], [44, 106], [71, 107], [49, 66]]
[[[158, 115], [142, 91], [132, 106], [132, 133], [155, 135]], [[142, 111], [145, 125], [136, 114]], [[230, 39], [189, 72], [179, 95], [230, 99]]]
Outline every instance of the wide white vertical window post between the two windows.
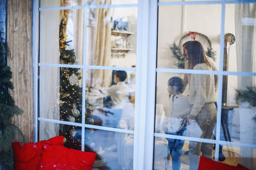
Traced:
[[[149, 22], [150, 21], [150, 22]], [[152, 169], [156, 89], [157, 1], [138, 2], [134, 169]]]

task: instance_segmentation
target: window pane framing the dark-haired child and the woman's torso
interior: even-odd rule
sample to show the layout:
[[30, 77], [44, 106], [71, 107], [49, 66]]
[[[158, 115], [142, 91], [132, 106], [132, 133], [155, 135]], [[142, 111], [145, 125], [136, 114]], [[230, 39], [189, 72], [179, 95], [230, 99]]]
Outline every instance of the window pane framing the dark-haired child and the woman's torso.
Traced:
[[213, 74], [157, 73], [155, 131], [213, 139], [218, 92], [214, 85]]

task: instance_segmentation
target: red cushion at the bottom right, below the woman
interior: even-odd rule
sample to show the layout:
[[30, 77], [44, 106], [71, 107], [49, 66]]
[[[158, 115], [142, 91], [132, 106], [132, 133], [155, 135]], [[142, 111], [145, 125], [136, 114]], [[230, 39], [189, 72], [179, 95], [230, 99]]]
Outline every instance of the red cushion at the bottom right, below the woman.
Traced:
[[200, 157], [198, 170], [244, 170], [243, 166], [230, 166], [222, 162], [215, 162], [214, 160]]

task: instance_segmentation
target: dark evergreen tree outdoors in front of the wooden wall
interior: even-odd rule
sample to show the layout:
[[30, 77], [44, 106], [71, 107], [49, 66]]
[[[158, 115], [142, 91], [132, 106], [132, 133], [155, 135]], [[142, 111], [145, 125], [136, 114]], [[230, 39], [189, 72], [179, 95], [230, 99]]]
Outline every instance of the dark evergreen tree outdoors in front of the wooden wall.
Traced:
[[13, 124], [14, 115], [23, 113], [15, 106], [15, 101], [9, 90], [13, 90], [12, 71], [6, 66], [4, 57], [8, 54], [7, 46], [0, 41], [0, 169], [14, 169], [13, 167], [13, 141], [25, 141], [20, 129]]

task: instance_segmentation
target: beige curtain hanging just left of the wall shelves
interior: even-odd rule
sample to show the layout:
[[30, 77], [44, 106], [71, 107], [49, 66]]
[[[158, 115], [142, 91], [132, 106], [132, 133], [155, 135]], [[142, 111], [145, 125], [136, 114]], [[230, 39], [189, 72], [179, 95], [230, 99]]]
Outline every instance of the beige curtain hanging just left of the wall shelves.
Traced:
[[[111, 4], [111, 0], [97, 0], [97, 4]], [[93, 65], [109, 66], [111, 60], [111, 12], [110, 8], [95, 10]], [[92, 86], [109, 86], [111, 72], [102, 69], [93, 71]]]

